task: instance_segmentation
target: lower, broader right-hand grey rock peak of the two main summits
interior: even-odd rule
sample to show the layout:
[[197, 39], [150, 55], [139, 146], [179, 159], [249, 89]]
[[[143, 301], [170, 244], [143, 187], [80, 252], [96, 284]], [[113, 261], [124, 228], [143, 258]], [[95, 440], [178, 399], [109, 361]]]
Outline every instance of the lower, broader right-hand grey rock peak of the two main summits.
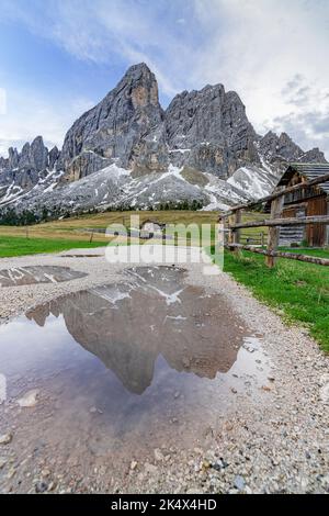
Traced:
[[224, 86], [184, 91], [166, 111], [170, 159], [227, 178], [240, 166], [259, 162], [256, 132], [239, 96]]

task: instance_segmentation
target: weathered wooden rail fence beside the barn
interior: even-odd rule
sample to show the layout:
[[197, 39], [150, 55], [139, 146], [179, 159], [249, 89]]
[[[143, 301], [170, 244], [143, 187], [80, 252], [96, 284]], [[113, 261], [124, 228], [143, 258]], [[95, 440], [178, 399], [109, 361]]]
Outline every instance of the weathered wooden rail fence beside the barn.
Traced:
[[[284, 197], [287, 193], [295, 192], [300, 189], [307, 189], [321, 184], [329, 181], [329, 173], [315, 178], [310, 181], [300, 182], [293, 187], [283, 188], [275, 191], [271, 195], [266, 195], [258, 201], [250, 202], [248, 204], [239, 204], [232, 207], [229, 212], [226, 212], [219, 216], [219, 221], [224, 222], [224, 232], [227, 235], [225, 247], [229, 250], [248, 250], [259, 255], [265, 256], [266, 266], [272, 268], [275, 265], [276, 258], [288, 258], [291, 260], [306, 261], [310, 263], [317, 263], [320, 266], [329, 266], [329, 259], [318, 258], [315, 256], [299, 255], [296, 253], [285, 253], [279, 250], [280, 228], [282, 226], [305, 226], [307, 224], [324, 224], [329, 225], [329, 215], [318, 216], [303, 216], [303, 217], [287, 217], [282, 218], [282, 210], [284, 205]], [[263, 218], [259, 221], [242, 222], [243, 210], [251, 210], [262, 206], [264, 203], [271, 204], [270, 218]], [[241, 229], [253, 228], [253, 227], [268, 227], [268, 245], [266, 248], [254, 247], [249, 243], [241, 244]]]

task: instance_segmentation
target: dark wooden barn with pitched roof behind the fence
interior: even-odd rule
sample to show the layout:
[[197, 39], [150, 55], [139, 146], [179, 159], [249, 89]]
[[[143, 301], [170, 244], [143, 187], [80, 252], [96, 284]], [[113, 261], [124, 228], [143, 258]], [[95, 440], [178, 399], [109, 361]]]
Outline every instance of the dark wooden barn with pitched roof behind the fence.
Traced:
[[[291, 164], [277, 188], [292, 187], [329, 173], [329, 164]], [[329, 215], [329, 181], [297, 190], [285, 195], [282, 217]], [[329, 245], [329, 226], [284, 226], [280, 231], [280, 245], [324, 247]]]

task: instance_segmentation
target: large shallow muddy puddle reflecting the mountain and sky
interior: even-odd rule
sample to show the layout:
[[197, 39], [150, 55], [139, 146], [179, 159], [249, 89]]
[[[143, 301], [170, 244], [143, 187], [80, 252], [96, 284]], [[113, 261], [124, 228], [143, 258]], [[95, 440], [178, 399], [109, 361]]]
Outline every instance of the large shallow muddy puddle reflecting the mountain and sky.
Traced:
[[[132, 269], [120, 284], [0, 326], [9, 396], [0, 434], [14, 427], [25, 468], [41, 459], [81, 474], [152, 457], [155, 448], [203, 445], [239, 394], [265, 382], [259, 339], [246, 336], [219, 295], [184, 276], [174, 267]], [[37, 404], [20, 408], [29, 390], [38, 391]]]

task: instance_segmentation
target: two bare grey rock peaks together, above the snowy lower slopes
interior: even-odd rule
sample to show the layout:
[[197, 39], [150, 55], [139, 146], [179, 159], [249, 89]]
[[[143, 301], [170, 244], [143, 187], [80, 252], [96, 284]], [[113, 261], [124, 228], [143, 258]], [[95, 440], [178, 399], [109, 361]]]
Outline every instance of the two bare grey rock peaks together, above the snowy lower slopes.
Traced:
[[157, 80], [141, 64], [73, 124], [61, 160], [69, 180], [114, 162], [136, 175], [163, 171], [171, 162], [227, 178], [259, 162], [256, 139], [240, 98], [222, 85], [184, 91], [163, 113]]

